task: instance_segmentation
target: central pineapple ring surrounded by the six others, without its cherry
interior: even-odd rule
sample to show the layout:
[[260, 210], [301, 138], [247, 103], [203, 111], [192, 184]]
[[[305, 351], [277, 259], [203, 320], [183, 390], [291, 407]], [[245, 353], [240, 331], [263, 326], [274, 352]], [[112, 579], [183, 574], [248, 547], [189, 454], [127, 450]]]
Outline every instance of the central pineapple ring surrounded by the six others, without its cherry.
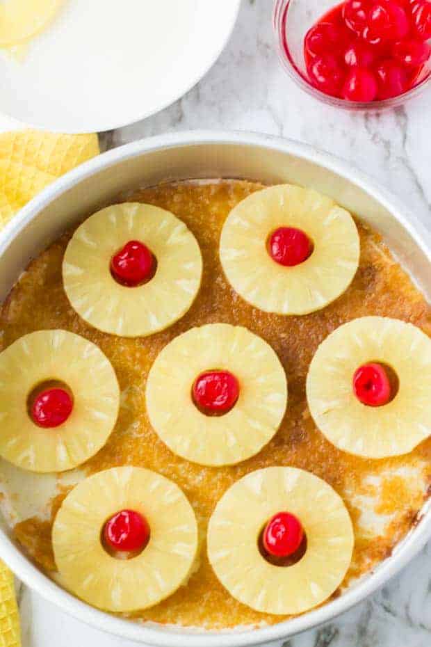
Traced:
[[[227, 370], [240, 384], [238, 400], [220, 417], [193, 403], [206, 370]], [[282, 422], [286, 374], [275, 351], [247, 328], [207, 324], [176, 337], [158, 354], [145, 393], [149, 420], [165, 445], [200, 465], [234, 465], [260, 452]]]

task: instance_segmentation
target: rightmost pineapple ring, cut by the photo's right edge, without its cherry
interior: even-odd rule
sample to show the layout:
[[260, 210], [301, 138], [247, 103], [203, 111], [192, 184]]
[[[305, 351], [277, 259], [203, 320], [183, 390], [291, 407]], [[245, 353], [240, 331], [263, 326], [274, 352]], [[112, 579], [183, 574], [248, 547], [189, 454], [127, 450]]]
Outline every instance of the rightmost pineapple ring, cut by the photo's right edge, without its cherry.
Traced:
[[[396, 397], [361, 404], [352, 388], [366, 362], [391, 367]], [[343, 452], [384, 458], [411, 452], [431, 433], [431, 340], [398, 319], [361, 317], [336, 328], [318, 347], [307, 376], [307, 401], [318, 429]]]

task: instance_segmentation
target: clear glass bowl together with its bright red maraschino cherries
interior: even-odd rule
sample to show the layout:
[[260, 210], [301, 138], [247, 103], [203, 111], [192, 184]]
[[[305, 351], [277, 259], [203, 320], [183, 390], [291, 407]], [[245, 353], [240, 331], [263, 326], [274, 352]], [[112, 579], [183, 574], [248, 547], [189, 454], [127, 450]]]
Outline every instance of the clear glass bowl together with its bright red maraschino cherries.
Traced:
[[286, 71], [332, 105], [399, 106], [431, 78], [431, 0], [277, 0], [274, 28]]

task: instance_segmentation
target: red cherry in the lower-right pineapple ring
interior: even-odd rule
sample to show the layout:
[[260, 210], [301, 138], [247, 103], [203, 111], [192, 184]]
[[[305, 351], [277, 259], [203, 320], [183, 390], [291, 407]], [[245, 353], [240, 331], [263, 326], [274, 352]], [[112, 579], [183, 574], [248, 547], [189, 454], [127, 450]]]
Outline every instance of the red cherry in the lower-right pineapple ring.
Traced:
[[300, 520], [291, 513], [279, 512], [263, 530], [263, 548], [274, 557], [288, 557], [300, 548], [303, 538]]

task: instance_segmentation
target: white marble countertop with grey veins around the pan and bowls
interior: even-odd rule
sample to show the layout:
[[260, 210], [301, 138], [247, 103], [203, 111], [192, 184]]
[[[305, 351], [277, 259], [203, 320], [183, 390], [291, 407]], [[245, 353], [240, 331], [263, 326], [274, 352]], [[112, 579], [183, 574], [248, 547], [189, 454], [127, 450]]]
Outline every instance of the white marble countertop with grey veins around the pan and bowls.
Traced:
[[[102, 145], [113, 147], [165, 131], [199, 128], [282, 135], [348, 159], [430, 223], [431, 88], [405, 107], [380, 114], [348, 113], [316, 102], [286, 77], [277, 61], [272, 5], [272, 0], [243, 0], [231, 40], [206, 77], [158, 115], [102, 135]], [[19, 599], [24, 647], [132, 646], [75, 621], [25, 587]], [[325, 627], [287, 641], [284, 647], [430, 645], [428, 545], [373, 598]]]

